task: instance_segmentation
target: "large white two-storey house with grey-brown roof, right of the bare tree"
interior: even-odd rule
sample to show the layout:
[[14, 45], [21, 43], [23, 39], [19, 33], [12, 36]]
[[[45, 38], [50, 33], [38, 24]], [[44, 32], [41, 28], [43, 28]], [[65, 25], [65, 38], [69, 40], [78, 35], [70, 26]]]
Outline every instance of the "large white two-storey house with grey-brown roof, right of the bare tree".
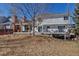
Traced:
[[72, 17], [68, 14], [40, 14], [36, 18], [38, 32], [64, 33], [75, 27]]

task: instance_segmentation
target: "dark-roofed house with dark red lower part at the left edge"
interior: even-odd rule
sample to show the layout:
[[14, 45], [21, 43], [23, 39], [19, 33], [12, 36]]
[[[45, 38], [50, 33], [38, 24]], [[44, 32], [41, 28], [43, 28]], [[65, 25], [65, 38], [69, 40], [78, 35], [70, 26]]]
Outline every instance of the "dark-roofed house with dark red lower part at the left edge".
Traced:
[[0, 35], [12, 33], [11, 22], [5, 16], [0, 16]]

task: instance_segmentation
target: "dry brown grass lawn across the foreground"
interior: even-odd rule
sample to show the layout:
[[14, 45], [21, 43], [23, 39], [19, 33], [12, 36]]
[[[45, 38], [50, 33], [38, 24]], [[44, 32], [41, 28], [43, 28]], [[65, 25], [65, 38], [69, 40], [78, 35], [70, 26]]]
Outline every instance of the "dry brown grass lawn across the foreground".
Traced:
[[79, 41], [65, 41], [47, 36], [4, 35], [0, 36], [0, 55], [79, 55]]

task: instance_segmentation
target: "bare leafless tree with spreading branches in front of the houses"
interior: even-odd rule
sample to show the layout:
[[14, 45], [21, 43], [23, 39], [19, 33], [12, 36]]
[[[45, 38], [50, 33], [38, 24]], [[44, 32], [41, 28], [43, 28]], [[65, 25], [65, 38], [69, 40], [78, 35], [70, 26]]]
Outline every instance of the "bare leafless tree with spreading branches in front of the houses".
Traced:
[[11, 4], [13, 8], [16, 9], [16, 13], [19, 15], [28, 16], [32, 19], [33, 26], [33, 36], [35, 35], [35, 17], [38, 14], [46, 13], [47, 4], [44, 3], [20, 3], [20, 4]]

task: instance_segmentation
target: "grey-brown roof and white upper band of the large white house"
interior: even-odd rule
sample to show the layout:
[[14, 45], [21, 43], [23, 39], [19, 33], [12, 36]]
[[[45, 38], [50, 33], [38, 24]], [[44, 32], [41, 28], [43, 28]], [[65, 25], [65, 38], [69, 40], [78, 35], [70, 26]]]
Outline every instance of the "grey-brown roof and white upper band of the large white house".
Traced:
[[68, 20], [64, 20], [64, 17], [68, 14], [40, 14], [36, 17], [36, 20], [40, 21], [41, 25], [55, 25], [55, 24], [75, 24], [71, 17]]

